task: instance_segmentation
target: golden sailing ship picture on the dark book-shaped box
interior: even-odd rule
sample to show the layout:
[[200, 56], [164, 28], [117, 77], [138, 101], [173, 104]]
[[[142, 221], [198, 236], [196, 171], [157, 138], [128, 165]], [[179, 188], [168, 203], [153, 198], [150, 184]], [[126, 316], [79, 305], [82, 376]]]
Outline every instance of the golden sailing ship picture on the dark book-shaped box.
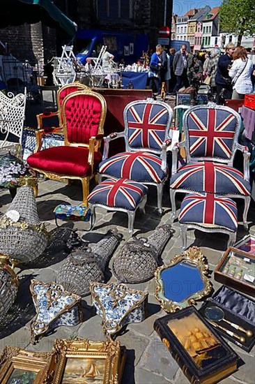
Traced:
[[170, 330], [199, 368], [209, 368], [226, 357], [226, 349], [196, 313], [169, 320]]

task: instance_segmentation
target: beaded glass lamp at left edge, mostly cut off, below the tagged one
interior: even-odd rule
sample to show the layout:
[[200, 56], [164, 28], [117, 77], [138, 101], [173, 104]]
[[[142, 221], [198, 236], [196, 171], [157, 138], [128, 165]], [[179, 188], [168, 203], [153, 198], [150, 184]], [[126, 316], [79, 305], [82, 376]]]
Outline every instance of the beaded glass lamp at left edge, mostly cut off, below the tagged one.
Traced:
[[6, 265], [0, 265], [0, 321], [15, 302], [18, 286], [13, 270]]

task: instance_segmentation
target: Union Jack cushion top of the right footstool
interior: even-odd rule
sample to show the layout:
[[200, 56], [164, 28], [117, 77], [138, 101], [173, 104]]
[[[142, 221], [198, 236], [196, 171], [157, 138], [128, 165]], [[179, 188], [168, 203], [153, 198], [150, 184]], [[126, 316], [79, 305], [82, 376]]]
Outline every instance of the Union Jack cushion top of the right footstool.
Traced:
[[212, 193], [186, 195], [180, 205], [179, 221], [235, 231], [238, 228], [237, 207], [232, 199]]

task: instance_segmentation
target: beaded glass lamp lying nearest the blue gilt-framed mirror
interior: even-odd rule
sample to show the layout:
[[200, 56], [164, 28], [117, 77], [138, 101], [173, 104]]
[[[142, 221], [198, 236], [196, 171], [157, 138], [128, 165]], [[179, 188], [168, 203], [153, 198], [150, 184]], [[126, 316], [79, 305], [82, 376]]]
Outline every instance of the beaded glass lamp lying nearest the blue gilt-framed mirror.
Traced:
[[171, 226], [156, 228], [148, 239], [133, 237], [114, 258], [113, 269], [118, 281], [142, 283], [152, 279], [160, 253], [173, 234]]

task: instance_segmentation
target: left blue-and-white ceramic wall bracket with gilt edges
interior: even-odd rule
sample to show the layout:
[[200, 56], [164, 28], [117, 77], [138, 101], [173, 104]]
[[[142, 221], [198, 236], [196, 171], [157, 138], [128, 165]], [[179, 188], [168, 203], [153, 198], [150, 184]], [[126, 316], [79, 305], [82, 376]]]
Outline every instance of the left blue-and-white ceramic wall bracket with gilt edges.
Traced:
[[64, 290], [54, 282], [31, 281], [36, 318], [31, 323], [31, 339], [60, 325], [77, 325], [82, 320], [81, 297]]

